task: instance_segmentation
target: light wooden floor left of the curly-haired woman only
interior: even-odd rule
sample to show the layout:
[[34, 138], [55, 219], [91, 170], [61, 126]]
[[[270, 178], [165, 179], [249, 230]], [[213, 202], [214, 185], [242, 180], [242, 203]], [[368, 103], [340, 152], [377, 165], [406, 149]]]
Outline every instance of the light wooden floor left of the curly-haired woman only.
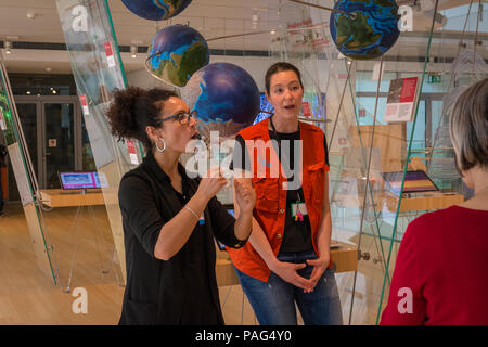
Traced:
[[[65, 285], [72, 262], [73, 237], [69, 226], [75, 209], [60, 208], [44, 211], [61, 282]], [[94, 208], [94, 224], [107, 226], [103, 208]], [[81, 223], [86, 228], [86, 221]], [[100, 228], [108, 240], [107, 228]], [[76, 230], [72, 236], [76, 235]], [[87, 230], [85, 230], [87, 231]], [[99, 242], [101, 243], [101, 242]], [[105, 258], [108, 241], [99, 244]], [[104, 247], [104, 248], [103, 248]], [[0, 217], [0, 324], [115, 324], [120, 314], [124, 288], [117, 284], [114, 270], [102, 273], [93, 233], [81, 232], [73, 272], [72, 290], [85, 287], [88, 313], [75, 314], [72, 305], [76, 297], [63, 293], [52, 278], [37, 266], [29, 233], [20, 205], [7, 205]], [[105, 250], [104, 250], [105, 249]], [[105, 261], [105, 266], [108, 261]], [[116, 268], [118, 268], [116, 266]], [[118, 269], [119, 271], [119, 269]]]

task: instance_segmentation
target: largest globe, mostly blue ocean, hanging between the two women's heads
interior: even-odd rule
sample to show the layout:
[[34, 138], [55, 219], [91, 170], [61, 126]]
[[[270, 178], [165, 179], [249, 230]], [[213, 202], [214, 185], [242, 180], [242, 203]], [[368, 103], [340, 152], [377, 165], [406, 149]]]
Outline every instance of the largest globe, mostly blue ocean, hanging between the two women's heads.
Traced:
[[210, 131], [218, 131], [221, 140], [232, 139], [259, 113], [256, 82], [246, 70], [230, 63], [214, 63], [197, 70], [181, 89], [181, 97], [198, 113], [204, 140]]

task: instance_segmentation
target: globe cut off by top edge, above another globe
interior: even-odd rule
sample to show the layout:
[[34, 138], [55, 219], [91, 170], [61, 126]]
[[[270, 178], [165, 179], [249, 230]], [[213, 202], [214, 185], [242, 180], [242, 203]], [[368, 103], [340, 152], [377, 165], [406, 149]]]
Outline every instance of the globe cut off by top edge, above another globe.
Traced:
[[123, 0], [133, 14], [150, 21], [169, 20], [181, 13], [192, 0]]

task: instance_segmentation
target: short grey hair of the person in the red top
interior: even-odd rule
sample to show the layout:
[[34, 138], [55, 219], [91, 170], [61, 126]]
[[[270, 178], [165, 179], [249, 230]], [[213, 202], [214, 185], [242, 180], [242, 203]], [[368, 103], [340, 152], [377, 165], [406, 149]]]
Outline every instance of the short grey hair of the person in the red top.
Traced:
[[467, 88], [455, 101], [450, 134], [459, 169], [488, 168], [488, 78]]

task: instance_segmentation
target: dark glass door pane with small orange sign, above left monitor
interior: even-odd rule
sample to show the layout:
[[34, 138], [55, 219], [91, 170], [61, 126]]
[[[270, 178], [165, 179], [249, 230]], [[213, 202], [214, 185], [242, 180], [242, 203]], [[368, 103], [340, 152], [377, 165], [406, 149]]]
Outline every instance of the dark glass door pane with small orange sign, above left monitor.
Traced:
[[57, 172], [75, 170], [74, 105], [44, 104], [46, 183], [61, 188]]

